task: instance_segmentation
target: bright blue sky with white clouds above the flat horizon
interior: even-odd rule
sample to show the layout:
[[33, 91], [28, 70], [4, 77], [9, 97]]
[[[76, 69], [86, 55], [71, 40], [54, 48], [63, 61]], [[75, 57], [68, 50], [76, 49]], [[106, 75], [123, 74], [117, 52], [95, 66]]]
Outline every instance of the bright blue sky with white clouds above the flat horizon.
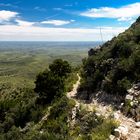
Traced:
[[0, 41], [106, 41], [140, 16], [140, 0], [0, 0]]

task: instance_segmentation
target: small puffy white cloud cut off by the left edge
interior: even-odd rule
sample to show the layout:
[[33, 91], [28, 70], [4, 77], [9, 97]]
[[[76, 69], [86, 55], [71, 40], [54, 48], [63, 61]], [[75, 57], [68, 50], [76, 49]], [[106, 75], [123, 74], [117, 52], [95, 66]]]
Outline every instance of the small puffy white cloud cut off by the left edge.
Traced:
[[18, 15], [17, 12], [1, 10], [0, 22], [10, 21], [12, 18], [15, 18], [17, 15]]

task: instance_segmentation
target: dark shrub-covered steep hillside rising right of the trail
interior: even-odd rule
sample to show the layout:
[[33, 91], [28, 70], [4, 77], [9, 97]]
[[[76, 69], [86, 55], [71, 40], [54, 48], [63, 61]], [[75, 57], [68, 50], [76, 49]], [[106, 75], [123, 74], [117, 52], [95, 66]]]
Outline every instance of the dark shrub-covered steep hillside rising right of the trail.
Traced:
[[80, 90], [103, 90], [124, 97], [140, 79], [140, 17], [124, 33], [89, 51]]

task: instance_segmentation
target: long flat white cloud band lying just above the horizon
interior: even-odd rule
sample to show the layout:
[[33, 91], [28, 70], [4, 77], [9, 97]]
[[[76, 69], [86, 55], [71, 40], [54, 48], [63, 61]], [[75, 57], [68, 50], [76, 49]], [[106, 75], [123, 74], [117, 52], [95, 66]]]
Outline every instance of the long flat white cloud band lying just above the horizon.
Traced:
[[[103, 40], [109, 40], [126, 28], [102, 27]], [[0, 25], [3, 41], [101, 41], [100, 29], [46, 28], [23, 25]]]

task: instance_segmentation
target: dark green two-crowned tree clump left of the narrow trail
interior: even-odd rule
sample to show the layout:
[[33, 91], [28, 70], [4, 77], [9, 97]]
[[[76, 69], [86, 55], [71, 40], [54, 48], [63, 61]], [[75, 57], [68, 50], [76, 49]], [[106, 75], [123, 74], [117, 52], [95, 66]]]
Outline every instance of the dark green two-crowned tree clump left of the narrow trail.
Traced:
[[65, 78], [71, 72], [67, 61], [55, 60], [49, 70], [45, 70], [36, 77], [35, 92], [41, 102], [50, 103], [56, 96], [62, 96], [65, 90]]

